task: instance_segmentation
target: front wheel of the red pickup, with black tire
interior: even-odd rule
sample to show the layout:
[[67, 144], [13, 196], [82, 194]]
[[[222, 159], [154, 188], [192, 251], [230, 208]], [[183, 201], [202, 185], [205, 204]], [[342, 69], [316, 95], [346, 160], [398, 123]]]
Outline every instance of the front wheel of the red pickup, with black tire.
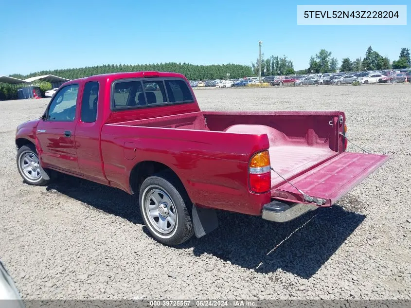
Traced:
[[[33, 168], [31, 168], [31, 171], [27, 172], [24, 171], [24, 164], [27, 160], [30, 160], [30, 157], [33, 158]], [[18, 173], [25, 183], [37, 186], [47, 185], [49, 183], [50, 180], [45, 180], [43, 178], [42, 174], [46, 173], [46, 170], [41, 167], [38, 161], [36, 147], [33, 144], [23, 145], [18, 149], [16, 163]], [[29, 164], [30, 163], [27, 163], [27, 165]]]

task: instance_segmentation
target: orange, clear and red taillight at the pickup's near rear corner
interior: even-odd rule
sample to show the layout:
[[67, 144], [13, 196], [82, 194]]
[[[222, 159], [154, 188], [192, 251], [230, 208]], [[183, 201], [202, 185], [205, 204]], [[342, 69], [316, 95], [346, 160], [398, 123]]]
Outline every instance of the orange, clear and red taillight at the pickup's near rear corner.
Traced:
[[268, 151], [254, 154], [249, 167], [250, 190], [265, 193], [271, 188], [270, 156]]

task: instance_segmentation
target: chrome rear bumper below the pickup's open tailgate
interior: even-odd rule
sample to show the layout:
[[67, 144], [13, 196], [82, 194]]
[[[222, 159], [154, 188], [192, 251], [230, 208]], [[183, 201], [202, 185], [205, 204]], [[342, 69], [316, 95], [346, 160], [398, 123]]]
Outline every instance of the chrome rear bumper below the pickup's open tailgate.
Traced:
[[270, 221], [286, 222], [316, 209], [318, 209], [318, 206], [315, 204], [288, 204], [286, 202], [274, 200], [263, 206], [263, 212], [261, 216], [263, 217], [263, 219]]

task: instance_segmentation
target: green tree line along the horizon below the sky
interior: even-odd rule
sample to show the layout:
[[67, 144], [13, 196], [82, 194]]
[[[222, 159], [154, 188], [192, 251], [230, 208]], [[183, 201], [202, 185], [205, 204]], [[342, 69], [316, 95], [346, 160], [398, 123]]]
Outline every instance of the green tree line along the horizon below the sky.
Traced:
[[[295, 71], [293, 61], [288, 59], [286, 55], [274, 56], [268, 58], [262, 54], [261, 58], [261, 74], [268, 75], [291, 75], [291, 74], [306, 74], [306, 73], [324, 73], [324, 72], [341, 72], [350, 71], [374, 71], [385, 69], [405, 69], [411, 67], [410, 49], [401, 48], [398, 60], [390, 64], [388, 57], [383, 57], [378, 52], [374, 51], [371, 46], [367, 48], [365, 57], [363, 59], [356, 58], [352, 61], [350, 58], [343, 58], [341, 66], [335, 57], [331, 57], [332, 53], [321, 49], [317, 54], [312, 55], [308, 62], [308, 68], [300, 71]], [[92, 75], [112, 73], [112, 72], [139, 72], [139, 71], [159, 71], [159, 72], [178, 72], [184, 74], [188, 79], [193, 80], [214, 80], [224, 78], [241, 78], [259, 74], [259, 59], [251, 62], [249, 65], [240, 64], [222, 64], [222, 65], [195, 65], [189, 63], [156, 63], [156, 64], [142, 64], [142, 65], [125, 65], [125, 64], [104, 64], [97, 66], [88, 66], [83, 68], [70, 68], [59, 70], [48, 70], [40, 72], [32, 72], [27, 75], [12, 74], [10, 76], [19, 79], [26, 79], [29, 77], [52, 74], [67, 79], [76, 79], [88, 77]], [[230, 74], [230, 75], [228, 75]], [[51, 89], [49, 83], [36, 82], [42, 86], [42, 91]], [[0, 100], [17, 98], [16, 90], [7, 84], [0, 83]]]

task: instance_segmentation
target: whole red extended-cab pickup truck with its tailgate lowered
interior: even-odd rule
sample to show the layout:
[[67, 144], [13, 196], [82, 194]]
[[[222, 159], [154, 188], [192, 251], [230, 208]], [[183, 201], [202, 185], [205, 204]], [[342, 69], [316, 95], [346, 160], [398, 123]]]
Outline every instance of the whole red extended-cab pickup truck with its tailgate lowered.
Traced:
[[345, 132], [341, 111], [201, 111], [181, 74], [114, 73], [66, 82], [19, 125], [17, 166], [32, 185], [58, 171], [138, 194], [152, 236], [177, 245], [216, 209], [284, 222], [331, 206], [388, 159], [345, 152]]

